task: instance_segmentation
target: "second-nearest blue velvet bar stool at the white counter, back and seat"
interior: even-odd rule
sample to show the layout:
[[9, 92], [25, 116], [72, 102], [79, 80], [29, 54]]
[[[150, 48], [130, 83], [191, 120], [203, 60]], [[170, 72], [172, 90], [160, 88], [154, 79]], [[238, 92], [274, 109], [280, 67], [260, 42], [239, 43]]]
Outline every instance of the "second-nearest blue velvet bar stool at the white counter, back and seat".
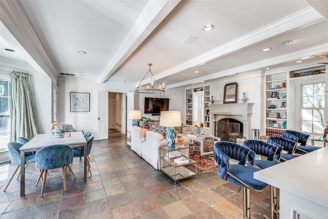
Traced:
[[273, 165], [279, 164], [280, 152], [282, 147], [272, 145], [267, 142], [259, 140], [246, 140], [242, 143], [243, 146], [248, 147], [254, 153], [267, 157], [267, 160], [248, 160], [247, 162], [260, 169], [265, 169]]

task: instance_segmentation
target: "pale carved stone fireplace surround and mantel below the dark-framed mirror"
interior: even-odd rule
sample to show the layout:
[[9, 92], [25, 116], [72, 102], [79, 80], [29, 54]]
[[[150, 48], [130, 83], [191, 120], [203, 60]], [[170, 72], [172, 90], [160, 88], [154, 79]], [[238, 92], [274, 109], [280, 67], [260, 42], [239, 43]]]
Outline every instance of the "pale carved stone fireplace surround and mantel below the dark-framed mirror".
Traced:
[[251, 116], [253, 103], [237, 103], [237, 104], [211, 104], [210, 116], [211, 116], [211, 128], [210, 134], [214, 135], [214, 122], [221, 120], [222, 118], [234, 118], [243, 123], [243, 136], [244, 138], [251, 139]]

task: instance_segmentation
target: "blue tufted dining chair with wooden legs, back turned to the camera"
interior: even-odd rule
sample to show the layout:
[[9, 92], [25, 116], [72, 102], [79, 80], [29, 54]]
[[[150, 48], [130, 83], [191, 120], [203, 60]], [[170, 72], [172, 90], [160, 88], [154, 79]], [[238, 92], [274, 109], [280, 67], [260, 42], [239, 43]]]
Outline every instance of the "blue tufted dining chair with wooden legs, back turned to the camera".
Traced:
[[41, 170], [35, 186], [37, 186], [42, 174], [44, 174], [41, 195], [43, 196], [47, 173], [50, 169], [56, 169], [61, 167], [63, 171], [64, 190], [66, 189], [66, 166], [71, 170], [70, 164], [73, 162], [73, 148], [68, 145], [49, 145], [41, 148], [35, 153], [36, 168]]

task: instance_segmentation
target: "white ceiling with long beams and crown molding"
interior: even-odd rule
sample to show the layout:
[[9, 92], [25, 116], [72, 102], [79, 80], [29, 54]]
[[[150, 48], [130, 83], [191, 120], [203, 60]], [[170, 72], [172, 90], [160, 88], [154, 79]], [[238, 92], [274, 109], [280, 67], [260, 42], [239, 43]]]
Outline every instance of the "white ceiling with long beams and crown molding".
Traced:
[[[33, 29], [26, 23], [24, 28], [36, 33], [55, 77], [59, 72], [75, 74], [77, 77], [64, 78], [119, 85], [123, 90], [135, 88], [148, 71], [148, 63], [153, 64], [151, 69], [159, 83], [166, 81], [168, 88], [174, 88], [240, 72], [295, 65], [303, 57], [328, 53], [328, 1], [12, 2], [3, 1], [1, 12], [17, 16], [17, 21], [24, 21], [19, 17], [26, 15]], [[22, 14], [4, 10], [17, 11], [20, 7]], [[12, 30], [7, 17], [3, 15], [1, 20]], [[215, 28], [204, 32], [202, 27], [207, 24]], [[16, 53], [14, 57], [4, 51], [16, 48], [3, 31], [1, 36], [0, 58], [24, 62], [24, 55]], [[198, 39], [182, 43], [189, 36]], [[283, 44], [290, 40], [294, 43]], [[261, 51], [265, 47], [272, 50]], [[79, 54], [80, 50], [87, 54]], [[319, 61], [322, 59], [318, 57], [304, 59]], [[196, 70], [200, 72], [194, 73]]]

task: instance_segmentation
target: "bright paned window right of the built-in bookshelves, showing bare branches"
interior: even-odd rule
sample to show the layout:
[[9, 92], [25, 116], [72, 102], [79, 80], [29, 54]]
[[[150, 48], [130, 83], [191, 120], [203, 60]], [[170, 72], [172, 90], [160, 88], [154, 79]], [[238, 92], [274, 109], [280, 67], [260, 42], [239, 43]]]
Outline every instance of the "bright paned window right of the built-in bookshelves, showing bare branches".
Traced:
[[324, 83], [302, 85], [302, 132], [322, 134], [324, 131], [324, 87]]

